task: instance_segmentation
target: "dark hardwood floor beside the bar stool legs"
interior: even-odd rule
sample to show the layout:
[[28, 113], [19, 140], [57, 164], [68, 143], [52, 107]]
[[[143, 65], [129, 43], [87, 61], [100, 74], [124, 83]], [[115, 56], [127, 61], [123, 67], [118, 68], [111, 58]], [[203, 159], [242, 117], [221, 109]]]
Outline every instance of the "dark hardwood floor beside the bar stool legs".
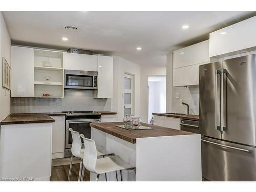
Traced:
[[[77, 181], [79, 174], [79, 165], [72, 165], [72, 172], [70, 181]], [[69, 165], [61, 165], [52, 167], [52, 176], [50, 177], [50, 181], [68, 181], [69, 175]], [[83, 181], [90, 181], [90, 172], [86, 170], [84, 172]]]

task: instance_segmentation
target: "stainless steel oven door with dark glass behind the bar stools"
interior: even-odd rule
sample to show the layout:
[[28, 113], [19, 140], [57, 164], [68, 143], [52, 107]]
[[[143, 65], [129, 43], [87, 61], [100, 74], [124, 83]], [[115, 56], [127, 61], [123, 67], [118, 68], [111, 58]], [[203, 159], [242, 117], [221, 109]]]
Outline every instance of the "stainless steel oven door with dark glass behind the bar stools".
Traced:
[[[73, 131], [79, 132], [79, 134], [83, 134], [86, 138], [91, 139], [91, 126], [92, 122], [99, 122], [100, 119], [67, 119], [66, 120], [66, 141], [65, 146], [67, 148], [71, 148], [72, 146], [72, 135], [69, 131], [71, 128]], [[83, 140], [82, 146], [83, 146]]]

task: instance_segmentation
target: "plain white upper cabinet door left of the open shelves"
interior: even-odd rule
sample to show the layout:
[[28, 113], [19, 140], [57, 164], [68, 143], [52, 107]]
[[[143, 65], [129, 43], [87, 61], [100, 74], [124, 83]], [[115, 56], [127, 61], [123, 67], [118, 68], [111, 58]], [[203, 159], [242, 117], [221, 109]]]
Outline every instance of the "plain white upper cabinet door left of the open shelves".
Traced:
[[33, 49], [12, 46], [11, 48], [11, 97], [34, 96]]

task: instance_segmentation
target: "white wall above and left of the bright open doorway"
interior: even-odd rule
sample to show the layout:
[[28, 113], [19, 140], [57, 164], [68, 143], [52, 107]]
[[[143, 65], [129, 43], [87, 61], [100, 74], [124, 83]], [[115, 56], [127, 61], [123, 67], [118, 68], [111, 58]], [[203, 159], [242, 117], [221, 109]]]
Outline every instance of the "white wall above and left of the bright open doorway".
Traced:
[[[165, 66], [141, 66], [141, 76], [140, 76], [140, 117], [141, 121], [147, 123], [147, 78], [148, 76], [161, 76], [166, 75]], [[167, 82], [167, 81], [166, 81]]]

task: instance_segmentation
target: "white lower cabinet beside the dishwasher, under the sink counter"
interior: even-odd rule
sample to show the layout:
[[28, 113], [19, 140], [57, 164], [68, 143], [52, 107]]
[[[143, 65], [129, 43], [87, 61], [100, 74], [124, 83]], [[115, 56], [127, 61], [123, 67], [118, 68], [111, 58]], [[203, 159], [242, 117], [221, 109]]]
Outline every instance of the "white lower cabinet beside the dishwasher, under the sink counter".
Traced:
[[154, 115], [154, 125], [180, 130], [180, 118]]

